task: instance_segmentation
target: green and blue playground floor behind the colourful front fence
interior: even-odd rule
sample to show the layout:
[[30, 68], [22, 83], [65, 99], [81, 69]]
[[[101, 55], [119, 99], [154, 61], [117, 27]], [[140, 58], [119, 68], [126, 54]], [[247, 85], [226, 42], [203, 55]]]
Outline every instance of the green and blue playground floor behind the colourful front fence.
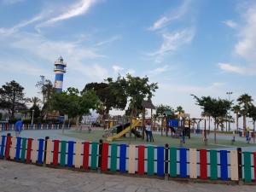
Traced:
[[[166, 137], [165, 135], [161, 136], [159, 131], [153, 131], [154, 143], [147, 143], [141, 137], [119, 137], [119, 139], [114, 140], [113, 142], [108, 142], [106, 137], [102, 137], [106, 131], [103, 131], [102, 128], [94, 127], [89, 132], [87, 129], [82, 131], [77, 129], [65, 130], [62, 134], [61, 130], [25, 130], [21, 131], [20, 137], [32, 137], [32, 138], [44, 138], [49, 137], [50, 139], [59, 139], [67, 141], [88, 141], [88, 142], [99, 142], [101, 139], [103, 142], [107, 143], [125, 143], [125, 144], [135, 144], [135, 145], [154, 145], [154, 146], [165, 146], [167, 143], [171, 147], [175, 148], [247, 148], [247, 151], [253, 151], [256, 147], [256, 143], [247, 143], [244, 137], [239, 137], [236, 135], [236, 142], [232, 143], [231, 140], [233, 135], [218, 135], [217, 143], [214, 143], [213, 133], [208, 135], [207, 144], [203, 140], [201, 134], [191, 134], [190, 139], [186, 138], [185, 143], [182, 142], [180, 138], [172, 138], [171, 135]], [[11, 133], [12, 136], [15, 136], [15, 131], [2, 131], [1, 135], [6, 135]]]

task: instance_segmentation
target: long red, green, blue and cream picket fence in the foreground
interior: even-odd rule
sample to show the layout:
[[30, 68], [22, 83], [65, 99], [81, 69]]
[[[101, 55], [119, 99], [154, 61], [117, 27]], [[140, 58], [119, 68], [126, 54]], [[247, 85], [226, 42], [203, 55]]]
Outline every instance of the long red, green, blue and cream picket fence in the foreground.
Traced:
[[256, 153], [2, 136], [0, 158], [158, 177], [256, 183]]

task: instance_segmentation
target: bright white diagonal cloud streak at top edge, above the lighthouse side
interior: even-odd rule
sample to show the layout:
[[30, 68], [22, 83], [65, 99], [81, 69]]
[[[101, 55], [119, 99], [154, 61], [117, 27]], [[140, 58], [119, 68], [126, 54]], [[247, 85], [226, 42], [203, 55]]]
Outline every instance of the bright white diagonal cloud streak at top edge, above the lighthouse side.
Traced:
[[44, 23], [38, 25], [38, 27], [48, 26], [61, 20], [68, 20], [79, 15], [84, 15], [94, 4], [96, 4], [96, 2], [97, 0], [80, 0], [79, 3], [75, 3], [65, 9], [65, 12], [46, 20]]

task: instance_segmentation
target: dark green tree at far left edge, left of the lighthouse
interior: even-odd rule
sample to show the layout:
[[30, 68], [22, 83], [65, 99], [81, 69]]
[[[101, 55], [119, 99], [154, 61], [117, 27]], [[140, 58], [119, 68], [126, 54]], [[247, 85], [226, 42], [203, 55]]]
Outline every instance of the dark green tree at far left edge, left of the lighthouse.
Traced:
[[15, 118], [15, 113], [26, 110], [26, 102], [24, 88], [15, 82], [15, 80], [3, 84], [0, 88], [0, 108], [7, 109], [11, 118]]

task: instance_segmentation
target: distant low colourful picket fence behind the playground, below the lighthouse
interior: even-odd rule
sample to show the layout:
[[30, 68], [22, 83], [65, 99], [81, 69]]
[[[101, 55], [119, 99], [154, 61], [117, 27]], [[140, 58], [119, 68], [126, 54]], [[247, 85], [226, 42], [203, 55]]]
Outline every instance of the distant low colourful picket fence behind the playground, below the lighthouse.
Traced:
[[[23, 124], [23, 130], [59, 130], [62, 129], [62, 124]], [[69, 129], [64, 125], [65, 129]], [[15, 124], [0, 123], [0, 131], [15, 131]]]

